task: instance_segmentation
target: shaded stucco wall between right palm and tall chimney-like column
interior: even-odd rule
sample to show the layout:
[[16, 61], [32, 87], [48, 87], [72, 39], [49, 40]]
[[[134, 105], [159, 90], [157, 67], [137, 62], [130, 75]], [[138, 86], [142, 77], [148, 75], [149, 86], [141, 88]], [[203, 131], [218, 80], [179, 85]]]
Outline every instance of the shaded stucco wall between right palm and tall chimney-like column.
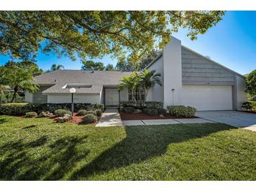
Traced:
[[[161, 74], [161, 81], [163, 83], [163, 56], [159, 57], [149, 68], [150, 71], [156, 70]], [[156, 84], [147, 94], [147, 101], [163, 102], [163, 86]]]

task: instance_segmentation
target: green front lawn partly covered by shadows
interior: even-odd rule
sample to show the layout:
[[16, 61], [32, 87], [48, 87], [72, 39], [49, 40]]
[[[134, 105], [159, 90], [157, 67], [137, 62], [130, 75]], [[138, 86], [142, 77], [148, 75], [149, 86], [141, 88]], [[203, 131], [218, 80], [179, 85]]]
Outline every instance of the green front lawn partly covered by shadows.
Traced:
[[0, 116], [1, 180], [255, 180], [256, 132]]

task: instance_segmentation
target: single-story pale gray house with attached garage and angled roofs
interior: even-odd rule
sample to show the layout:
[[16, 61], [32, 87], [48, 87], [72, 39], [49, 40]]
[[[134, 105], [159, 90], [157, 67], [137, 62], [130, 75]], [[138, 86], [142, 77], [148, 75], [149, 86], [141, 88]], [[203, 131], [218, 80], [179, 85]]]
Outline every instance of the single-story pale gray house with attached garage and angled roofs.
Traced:
[[[247, 100], [245, 78], [227, 67], [182, 46], [172, 37], [162, 53], [147, 67], [161, 73], [163, 86], [149, 90], [147, 101], [163, 102], [163, 106], [186, 105], [198, 111], [239, 110]], [[71, 102], [69, 88], [76, 88], [74, 102], [104, 103], [106, 107], [139, 98], [144, 90], [118, 90], [123, 71], [57, 70], [36, 76], [40, 90], [25, 92], [27, 102]], [[142, 97], [144, 98], [144, 97]]]

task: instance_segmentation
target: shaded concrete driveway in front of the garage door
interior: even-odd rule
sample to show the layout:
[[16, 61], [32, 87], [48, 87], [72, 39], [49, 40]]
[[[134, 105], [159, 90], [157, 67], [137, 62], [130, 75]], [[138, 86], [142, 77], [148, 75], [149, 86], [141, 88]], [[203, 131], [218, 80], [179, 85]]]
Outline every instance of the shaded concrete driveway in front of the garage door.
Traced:
[[250, 127], [256, 130], [256, 114], [241, 111], [197, 111], [196, 116], [238, 128]]

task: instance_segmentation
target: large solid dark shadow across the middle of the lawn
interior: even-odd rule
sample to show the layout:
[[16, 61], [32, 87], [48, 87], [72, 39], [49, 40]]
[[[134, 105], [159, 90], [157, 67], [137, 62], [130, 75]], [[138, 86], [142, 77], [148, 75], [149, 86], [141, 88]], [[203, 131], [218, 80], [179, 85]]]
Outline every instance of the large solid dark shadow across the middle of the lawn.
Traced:
[[229, 125], [217, 123], [126, 127], [125, 139], [74, 172], [69, 179], [86, 179], [93, 174], [140, 163], [143, 160], [163, 155], [169, 144], [205, 137], [213, 132], [232, 128]]

